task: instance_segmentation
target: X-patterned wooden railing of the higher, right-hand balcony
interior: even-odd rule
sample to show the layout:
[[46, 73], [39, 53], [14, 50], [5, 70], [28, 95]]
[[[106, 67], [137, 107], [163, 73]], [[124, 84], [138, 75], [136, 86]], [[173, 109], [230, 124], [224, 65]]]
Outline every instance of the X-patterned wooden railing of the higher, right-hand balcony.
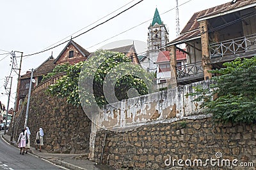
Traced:
[[256, 50], [256, 34], [209, 45], [211, 59]]

